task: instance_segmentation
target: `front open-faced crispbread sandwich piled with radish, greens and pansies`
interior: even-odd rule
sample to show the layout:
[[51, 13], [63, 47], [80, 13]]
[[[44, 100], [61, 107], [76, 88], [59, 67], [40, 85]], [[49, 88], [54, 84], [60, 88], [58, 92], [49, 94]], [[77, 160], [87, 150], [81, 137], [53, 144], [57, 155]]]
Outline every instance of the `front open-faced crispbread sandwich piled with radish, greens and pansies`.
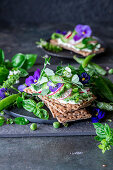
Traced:
[[[37, 71], [35, 74], [39, 77], [40, 71]], [[34, 77], [26, 79], [28, 87], [24, 91], [38, 96], [50, 109], [53, 118], [60, 123], [91, 118], [87, 107], [96, 97], [89, 86], [90, 76], [83, 68], [58, 66], [54, 72], [44, 65], [39, 79], [34, 80]]]

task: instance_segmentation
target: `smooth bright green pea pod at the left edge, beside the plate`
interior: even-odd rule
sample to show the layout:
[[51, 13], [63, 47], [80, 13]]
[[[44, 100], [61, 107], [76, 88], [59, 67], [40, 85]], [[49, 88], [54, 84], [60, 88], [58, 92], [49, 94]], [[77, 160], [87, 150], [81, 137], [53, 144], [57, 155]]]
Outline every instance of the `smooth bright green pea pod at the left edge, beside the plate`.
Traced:
[[17, 97], [19, 97], [19, 95], [20, 94], [13, 94], [11, 96], [8, 96], [8, 97], [2, 99], [0, 101], [0, 111], [2, 111], [3, 109], [6, 109], [10, 105], [12, 105], [16, 101]]

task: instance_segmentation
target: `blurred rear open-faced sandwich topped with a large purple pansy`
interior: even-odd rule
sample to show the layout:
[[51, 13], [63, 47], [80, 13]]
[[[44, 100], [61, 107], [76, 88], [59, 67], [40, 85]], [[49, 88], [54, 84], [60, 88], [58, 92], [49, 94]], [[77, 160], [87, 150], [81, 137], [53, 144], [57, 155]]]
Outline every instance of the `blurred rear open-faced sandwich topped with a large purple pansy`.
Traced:
[[51, 35], [49, 43], [41, 40], [39, 44], [50, 51], [57, 52], [63, 48], [82, 56], [104, 52], [104, 47], [92, 36], [88, 25], [77, 25], [74, 31], [58, 30]]

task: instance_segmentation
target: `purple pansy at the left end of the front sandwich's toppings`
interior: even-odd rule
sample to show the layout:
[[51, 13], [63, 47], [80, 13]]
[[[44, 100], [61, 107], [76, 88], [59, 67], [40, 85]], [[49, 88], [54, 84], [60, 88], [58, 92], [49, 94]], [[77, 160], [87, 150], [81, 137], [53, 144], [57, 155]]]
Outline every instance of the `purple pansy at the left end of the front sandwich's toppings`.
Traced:
[[37, 69], [34, 72], [33, 76], [29, 76], [28, 78], [26, 78], [26, 80], [25, 80], [26, 85], [30, 86], [31, 84], [36, 84], [40, 77], [40, 72], [41, 72], [40, 69]]

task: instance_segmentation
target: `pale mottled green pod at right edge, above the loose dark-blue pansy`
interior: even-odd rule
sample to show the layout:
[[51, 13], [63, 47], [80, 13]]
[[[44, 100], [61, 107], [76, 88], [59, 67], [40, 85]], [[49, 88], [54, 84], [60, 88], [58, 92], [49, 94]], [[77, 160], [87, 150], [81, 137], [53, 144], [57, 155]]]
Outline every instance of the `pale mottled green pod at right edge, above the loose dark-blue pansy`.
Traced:
[[97, 107], [107, 111], [113, 111], [113, 103], [98, 102]]

